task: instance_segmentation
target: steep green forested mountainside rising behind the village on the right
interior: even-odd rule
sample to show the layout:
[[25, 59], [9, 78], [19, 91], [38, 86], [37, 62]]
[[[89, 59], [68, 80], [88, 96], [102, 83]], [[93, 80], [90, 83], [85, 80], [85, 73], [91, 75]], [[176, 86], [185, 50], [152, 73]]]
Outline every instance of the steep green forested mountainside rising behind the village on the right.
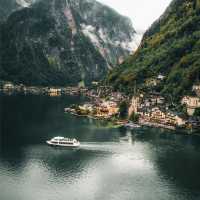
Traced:
[[[157, 81], [161, 77], [162, 81]], [[200, 79], [200, 1], [173, 0], [144, 34], [138, 50], [111, 71], [107, 82], [130, 91], [134, 84], [180, 98]], [[149, 88], [148, 88], [149, 87]]]

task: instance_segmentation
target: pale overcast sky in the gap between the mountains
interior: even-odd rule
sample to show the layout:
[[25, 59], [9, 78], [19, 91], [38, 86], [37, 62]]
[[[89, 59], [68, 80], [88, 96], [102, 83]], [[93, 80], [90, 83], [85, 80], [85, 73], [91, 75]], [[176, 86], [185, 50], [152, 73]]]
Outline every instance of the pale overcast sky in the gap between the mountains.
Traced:
[[131, 18], [138, 32], [144, 32], [158, 19], [172, 0], [98, 0]]

